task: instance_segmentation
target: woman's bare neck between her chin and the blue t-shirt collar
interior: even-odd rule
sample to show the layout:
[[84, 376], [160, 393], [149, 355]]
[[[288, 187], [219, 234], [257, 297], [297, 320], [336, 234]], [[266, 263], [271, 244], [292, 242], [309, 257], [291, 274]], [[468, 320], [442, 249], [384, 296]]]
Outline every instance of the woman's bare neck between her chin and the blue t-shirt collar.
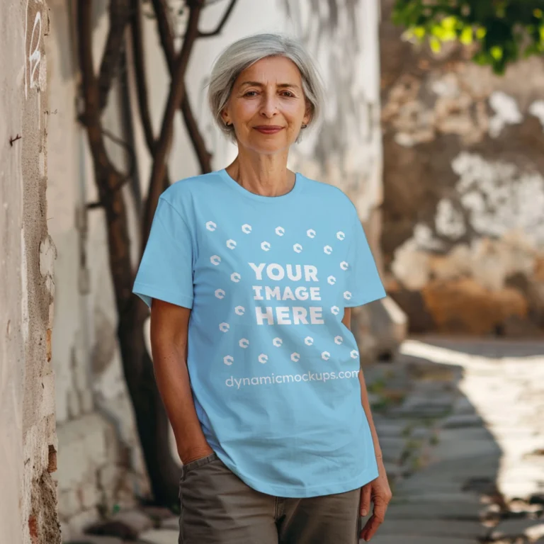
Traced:
[[281, 196], [295, 185], [295, 174], [287, 168], [286, 155], [249, 157], [239, 152], [226, 171], [246, 191], [257, 195]]

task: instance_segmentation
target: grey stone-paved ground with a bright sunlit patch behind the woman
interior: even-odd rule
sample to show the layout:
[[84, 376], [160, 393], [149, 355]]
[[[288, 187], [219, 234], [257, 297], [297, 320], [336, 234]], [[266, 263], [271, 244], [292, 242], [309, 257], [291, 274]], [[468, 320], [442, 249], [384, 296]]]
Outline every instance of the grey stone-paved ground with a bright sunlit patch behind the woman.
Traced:
[[[412, 339], [365, 380], [393, 491], [374, 544], [544, 543], [544, 342]], [[169, 511], [118, 516], [177, 543]]]

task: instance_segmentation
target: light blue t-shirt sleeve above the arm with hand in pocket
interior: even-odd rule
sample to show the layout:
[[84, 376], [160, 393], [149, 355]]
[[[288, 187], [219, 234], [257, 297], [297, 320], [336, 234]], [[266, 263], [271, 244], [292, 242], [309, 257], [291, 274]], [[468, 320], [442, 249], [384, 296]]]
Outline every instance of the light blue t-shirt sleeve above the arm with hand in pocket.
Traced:
[[158, 298], [193, 307], [193, 242], [183, 217], [159, 198], [132, 293], [149, 307]]

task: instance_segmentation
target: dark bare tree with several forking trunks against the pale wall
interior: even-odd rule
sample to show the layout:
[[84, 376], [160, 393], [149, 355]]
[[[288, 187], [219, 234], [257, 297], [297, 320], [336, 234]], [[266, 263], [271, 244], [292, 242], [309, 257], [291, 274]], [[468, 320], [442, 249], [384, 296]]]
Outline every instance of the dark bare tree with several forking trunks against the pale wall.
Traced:
[[[229, 0], [225, 13], [215, 30], [210, 33], [200, 33], [198, 21], [205, 6], [205, 0], [186, 0], [186, 5], [190, 10], [189, 20], [183, 45], [180, 52], [176, 54], [174, 36], [168, 19], [167, 2], [166, 0], [153, 0], [159, 36], [171, 74], [169, 96], [157, 138], [152, 132], [151, 116], [147, 103], [140, 0], [111, 0], [109, 8], [110, 30], [98, 77], [94, 73], [92, 57], [92, 0], [79, 0], [77, 10], [79, 64], [82, 76], [81, 92], [85, 106], [81, 122], [86, 127], [93, 157], [95, 182], [99, 196], [99, 202], [96, 205], [103, 207], [106, 212], [108, 254], [118, 311], [118, 339], [123, 372], [134, 407], [140, 444], [154, 499], [157, 504], [164, 506], [174, 506], [178, 502], [180, 471], [171, 455], [169, 421], [155, 382], [153, 364], [145, 346], [144, 323], [149, 316], [149, 311], [142, 300], [132, 295], [135, 272], [130, 261], [128, 216], [121, 191], [129, 176], [123, 176], [108, 157], [104, 140], [106, 132], [103, 130], [101, 114], [106, 107], [113, 79], [118, 73], [122, 47], [125, 42], [124, 34], [130, 24], [132, 62], [134, 63], [140, 118], [147, 147], [153, 159], [148, 196], [143, 203], [142, 210], [143, 247], [149, 235], [159, 196], [169, 183], [166, 160], [171, 146], [176, 111], [181, 110], [183, 114], [201, 170], [203, 172], [211, 170], [211, 155], [198, 130], [198, 123], [186, 94], [184, 79], [195, 40], [217, 35], [225, 26], [236, 1]], [[91, 206], [95, 207], [95, 205]]]

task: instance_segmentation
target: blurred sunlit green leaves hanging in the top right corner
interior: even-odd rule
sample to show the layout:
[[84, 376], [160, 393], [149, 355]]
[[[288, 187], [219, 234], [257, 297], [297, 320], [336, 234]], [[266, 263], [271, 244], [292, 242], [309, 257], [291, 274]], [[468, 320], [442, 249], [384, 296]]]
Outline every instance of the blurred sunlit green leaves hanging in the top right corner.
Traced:
[[392, 21], [408, 38], [429, 40], [433, 52], [452, 40], [476, 43], [472, 60], [496, 74], [519, 58], [544, 54], [544, 0], [397, 0]]

